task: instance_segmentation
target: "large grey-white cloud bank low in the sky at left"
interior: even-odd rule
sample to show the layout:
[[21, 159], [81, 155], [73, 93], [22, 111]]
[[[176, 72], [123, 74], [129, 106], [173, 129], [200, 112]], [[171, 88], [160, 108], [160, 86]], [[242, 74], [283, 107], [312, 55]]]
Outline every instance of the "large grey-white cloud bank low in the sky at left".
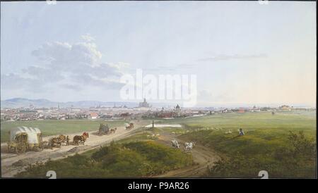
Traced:
[[82, 36], [86, 42], [47, 42], [32, 51], [36, 66], [28, 66], [20, 72], [1, 75], [1, 87], [29, 92], [45, 92], [47, 87], [79, 91], [83, 88], [119, 89], [123, 85], [119, 77], [129, 63], [102, 62], [102, 53], [93, 37]]

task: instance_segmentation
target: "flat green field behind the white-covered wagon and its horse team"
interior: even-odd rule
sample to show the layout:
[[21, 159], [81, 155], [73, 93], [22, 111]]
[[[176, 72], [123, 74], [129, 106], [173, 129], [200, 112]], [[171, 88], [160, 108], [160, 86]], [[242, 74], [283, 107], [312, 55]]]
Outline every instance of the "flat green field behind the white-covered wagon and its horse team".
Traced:
[[1, 121], [1, 143], [8, 142], [9, 130], [13, 127], [37, 127], [43, 136], [69, 134], [98, 130], [100, 123], [107, 123], [110, 127], [118, 127], [126, 123], [124, 120], [32, 120], [32, 121]]

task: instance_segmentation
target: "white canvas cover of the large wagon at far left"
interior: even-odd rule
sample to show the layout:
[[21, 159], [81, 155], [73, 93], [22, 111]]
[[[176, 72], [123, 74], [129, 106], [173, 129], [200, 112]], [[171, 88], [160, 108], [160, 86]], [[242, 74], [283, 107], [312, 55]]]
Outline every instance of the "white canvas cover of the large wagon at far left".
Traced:
[[16, 135], [20, 133], [26, 133], [28, 135], [28, 143], [29, 144], [39, 144], [39, 137], [38, 134], [41, 134], [41, 131], [38, 128], [33, 127], [15, 127], [10, 130], [10, 140], [14, 141]]

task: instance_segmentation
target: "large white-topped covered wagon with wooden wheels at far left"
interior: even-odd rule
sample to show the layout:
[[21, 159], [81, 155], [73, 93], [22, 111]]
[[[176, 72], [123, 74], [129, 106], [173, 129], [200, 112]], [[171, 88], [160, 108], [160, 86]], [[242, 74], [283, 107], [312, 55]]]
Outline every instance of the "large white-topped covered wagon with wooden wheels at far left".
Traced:
[[38, 128], [22, 126], [10, 130], [8, 152], [20, 154], [39, 149], [42, 149], [42, 133]]

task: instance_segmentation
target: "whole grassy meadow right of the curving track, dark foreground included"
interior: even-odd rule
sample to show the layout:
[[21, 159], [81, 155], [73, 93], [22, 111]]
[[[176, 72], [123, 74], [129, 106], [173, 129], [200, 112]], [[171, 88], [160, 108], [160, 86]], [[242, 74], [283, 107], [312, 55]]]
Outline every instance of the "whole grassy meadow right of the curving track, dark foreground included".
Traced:
[[[172, 120], [171, 122], [175, 122]], [[178, 122], [180, 123], [180, 121]], [[189, 132], [180, 136], [218, 151], [222, 160], [210, 177], [256, 178], [259, 170], [271, 178], [314, 178], [316, 175], [316, 112], [229, 113], [182, 121]], [[204, 130], [205, 127], [218, 130]], [[245, 136], [237, 137], [238, 129]], [[201, 128], [200, 131], [195, 129]], [[232, 133], [226, 133], [229, 130]]]

